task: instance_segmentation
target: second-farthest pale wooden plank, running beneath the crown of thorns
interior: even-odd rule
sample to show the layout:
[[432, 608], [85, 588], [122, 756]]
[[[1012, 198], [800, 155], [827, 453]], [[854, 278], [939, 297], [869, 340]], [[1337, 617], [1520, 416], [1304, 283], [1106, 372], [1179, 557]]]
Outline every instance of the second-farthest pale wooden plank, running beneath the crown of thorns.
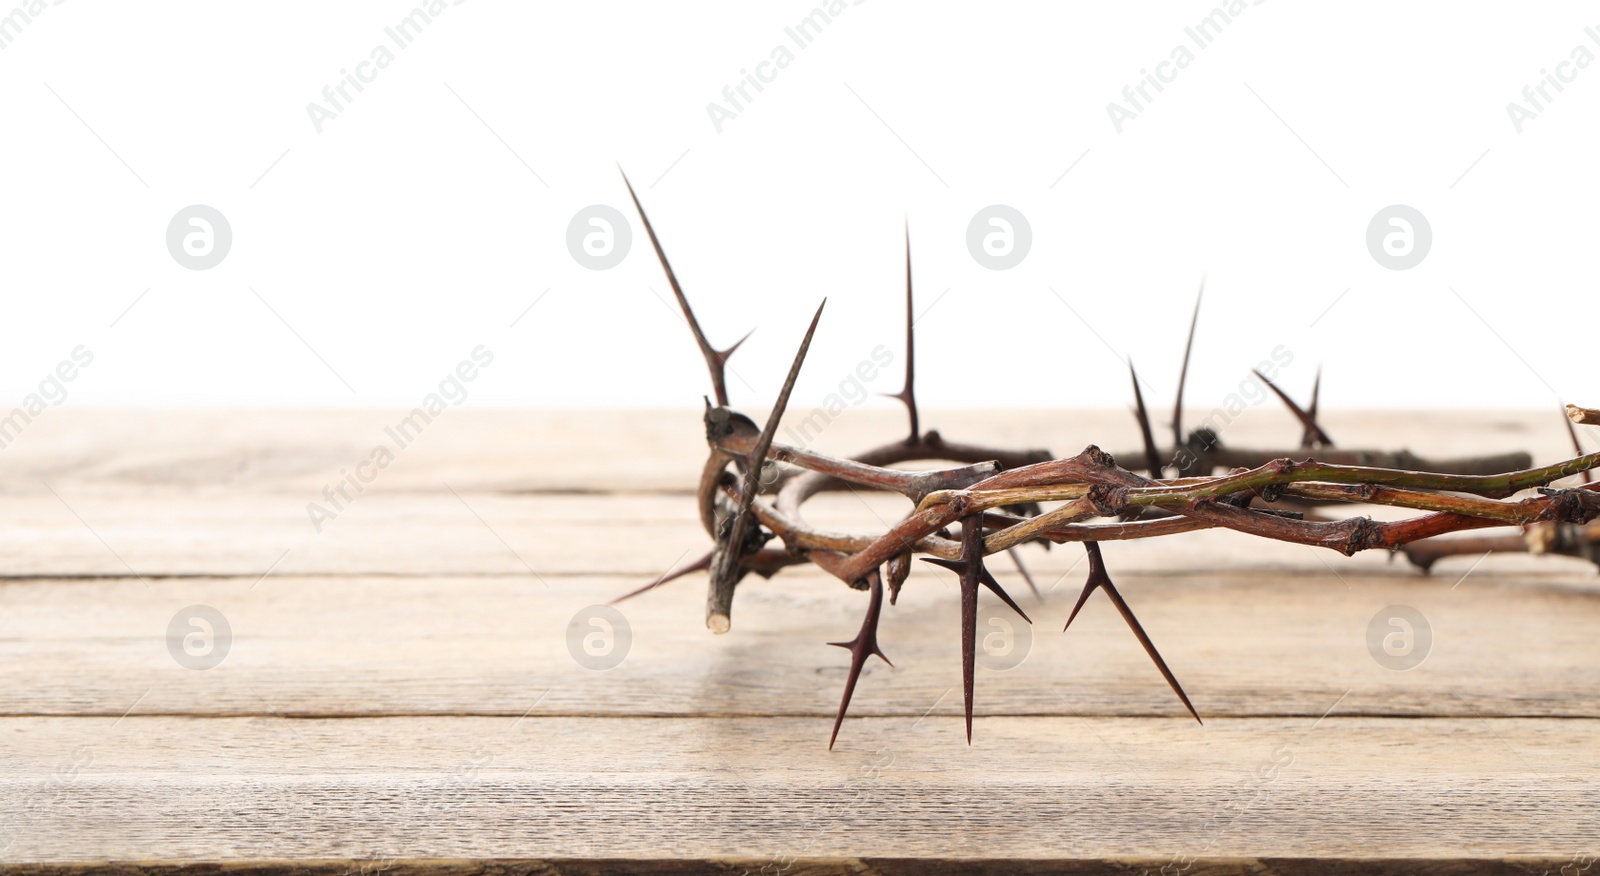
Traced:
[[[378, 488], [347, 507], [318, 534], [306, 504], [315, 496], [242, 492], [190, 496], [174, 491], [130, 494], [123, 489], [53, 484], [0, 502], [0, 577], [162, 577], [274, 574], [299, 575], [635, 575], [648, 583], [678, 558], [694, 559], [710, 547], [683, 496], [549, 496], [411, 492]], [[882, 534], [904, 515], [896, 496], [827, 494], [806, 504], [806, 520], [861, 536]], [[1352, 515], [1410, 516], [1390, 508], [1350, 508]], [[1298, 579], [1387, 575], [1421, 577], [1403, 558], [1386, 551], [1342, 556], [1330, 550], [1202, 531], [1106, 545], [1115, 572], [1248, 569]], [[1054, 580], [1077, 569], [1075, 545], [1045, 551], [1022, 548], [1030, 571]], [[1538, 580], [1594, 582], [1594, 564], [1573, 558], [1480, 555], [1442, 561], [1440, 580], [1474, 571], [1531, 575]], [[997, 574], [1010, 574], [1000, 558]], [[792, 572], [784, 572], [792, 574]], [[1075, 574], [1075, 572], [1074, 572]], [[630, 588], [630, 587], [629, 587]]]

